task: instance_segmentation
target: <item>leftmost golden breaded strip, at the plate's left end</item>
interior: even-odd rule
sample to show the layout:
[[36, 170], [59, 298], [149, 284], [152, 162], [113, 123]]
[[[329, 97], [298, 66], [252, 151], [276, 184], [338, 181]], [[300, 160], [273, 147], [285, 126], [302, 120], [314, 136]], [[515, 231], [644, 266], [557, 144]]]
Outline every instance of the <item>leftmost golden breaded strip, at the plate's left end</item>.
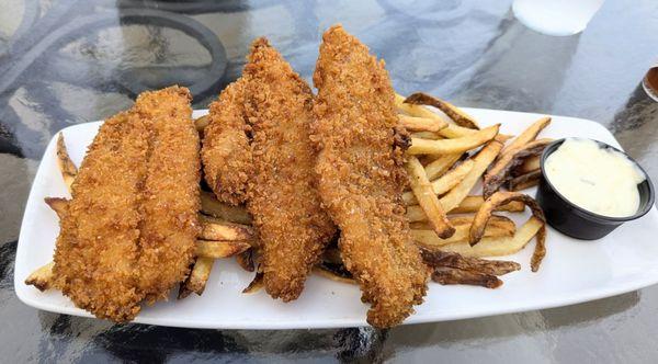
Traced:
[[127, 321], [139, 312], [137, 242], [149, 129], [134, 112], [100, 128], [60, 220], [54, 274], [76, 306]]

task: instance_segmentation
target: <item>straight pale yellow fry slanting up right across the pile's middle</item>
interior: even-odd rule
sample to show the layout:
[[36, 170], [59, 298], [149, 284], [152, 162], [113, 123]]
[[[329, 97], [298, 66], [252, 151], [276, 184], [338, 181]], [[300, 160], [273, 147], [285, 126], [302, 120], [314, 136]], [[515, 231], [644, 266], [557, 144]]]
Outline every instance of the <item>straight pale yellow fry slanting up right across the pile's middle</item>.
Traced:
[[470, 172], [452, 189], [447, 194], [441, 197], [441, 205], [447, 212], [460, 206], [462, 201], [468, 195], [470, 190], [475, 186], [479, 178], [485, 173], [487, 167], [496, 159], [498, 153], [502, 149], [502, 143], [497, 140], [489, 141], [473, 159], [475, 166]]

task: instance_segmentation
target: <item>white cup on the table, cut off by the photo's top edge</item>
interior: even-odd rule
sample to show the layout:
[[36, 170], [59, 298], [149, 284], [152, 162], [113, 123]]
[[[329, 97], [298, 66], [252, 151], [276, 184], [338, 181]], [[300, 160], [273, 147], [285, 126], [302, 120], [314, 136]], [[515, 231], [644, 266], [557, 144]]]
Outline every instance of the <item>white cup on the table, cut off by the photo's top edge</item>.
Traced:
[[535, 32], [566, 36], [582, 32], [604, 0], [514, 0], [514, 16]]

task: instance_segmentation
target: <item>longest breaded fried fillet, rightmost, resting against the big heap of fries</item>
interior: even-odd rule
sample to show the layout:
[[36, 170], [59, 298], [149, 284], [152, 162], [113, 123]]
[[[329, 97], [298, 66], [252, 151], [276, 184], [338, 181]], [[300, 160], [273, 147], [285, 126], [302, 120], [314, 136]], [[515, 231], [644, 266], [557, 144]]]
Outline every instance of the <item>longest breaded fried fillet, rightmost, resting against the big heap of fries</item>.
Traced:
[[340, 25], [322, 36], [314, 83], [318, 190], [341, 230], [345, 266], [371, 303], [367, 321], [400, 323], [422, 303], [428, 270], [409, 238], [394, 92], [368, 48]]

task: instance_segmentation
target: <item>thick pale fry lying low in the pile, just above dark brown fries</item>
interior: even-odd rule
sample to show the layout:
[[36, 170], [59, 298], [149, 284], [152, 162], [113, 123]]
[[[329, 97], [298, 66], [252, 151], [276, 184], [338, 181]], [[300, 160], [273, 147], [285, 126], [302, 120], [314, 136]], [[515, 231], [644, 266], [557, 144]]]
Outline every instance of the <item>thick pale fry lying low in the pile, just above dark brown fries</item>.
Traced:
[[468, 242], [460, 242], [442, 246], [441, 250], [456, 252], [465, 257], [510, 255], [523, 249], [543, 228], [544, 221], [532, 216], [517, 229], [513, 237], [486, 237], [473, 247]]

